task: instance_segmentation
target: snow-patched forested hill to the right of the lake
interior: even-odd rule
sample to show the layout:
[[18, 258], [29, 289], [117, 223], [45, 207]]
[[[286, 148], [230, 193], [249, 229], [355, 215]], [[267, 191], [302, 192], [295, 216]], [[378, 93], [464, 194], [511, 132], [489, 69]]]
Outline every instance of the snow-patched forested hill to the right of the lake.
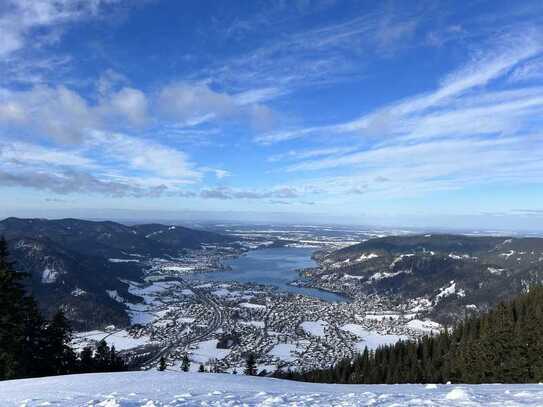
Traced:
[[314, 286], [353, 298], [416, 303], [418, 313], [452, 324], [543, 283], [543, 239], [497, 236], [388, 236], [319, 257]]

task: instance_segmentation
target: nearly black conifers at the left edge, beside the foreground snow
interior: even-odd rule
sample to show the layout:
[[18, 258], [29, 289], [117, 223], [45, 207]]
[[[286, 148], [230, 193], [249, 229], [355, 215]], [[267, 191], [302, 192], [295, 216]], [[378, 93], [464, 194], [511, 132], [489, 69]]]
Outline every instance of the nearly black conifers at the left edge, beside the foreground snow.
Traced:
[[70, 347], [72, 331], [62, 310], [42, 317], [0, 239], [0, 380], [125, 369], [114, 348], [100, 342], [80, 354]]

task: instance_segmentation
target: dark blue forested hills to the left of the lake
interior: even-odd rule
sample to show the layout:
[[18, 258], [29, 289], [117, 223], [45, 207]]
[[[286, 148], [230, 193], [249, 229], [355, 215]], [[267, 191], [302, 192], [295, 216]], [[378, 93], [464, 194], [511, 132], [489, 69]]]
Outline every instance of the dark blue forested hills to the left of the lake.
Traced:
[[29, 275], [26, 284], [41, 311], [52, 317], [63, 306], [78, 329], [128, 325], [124, 307], [108, 292], [138, 302], [124, 281], [140, 280], [143, 260], [231, 240], [179, 226], [80, 219], [8, 218], [0, 221], [0, 236], [8, 241], [17, 271]]

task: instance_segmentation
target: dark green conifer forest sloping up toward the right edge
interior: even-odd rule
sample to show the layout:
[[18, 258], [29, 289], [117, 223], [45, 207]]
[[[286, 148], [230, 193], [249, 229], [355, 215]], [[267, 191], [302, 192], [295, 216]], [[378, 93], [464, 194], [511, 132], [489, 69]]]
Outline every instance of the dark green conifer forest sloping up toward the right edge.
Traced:
[[319, 383], [531, 383], [543, 381], [543, 287], [454, 329], [364, 350], [330, 369], [278, 372]]

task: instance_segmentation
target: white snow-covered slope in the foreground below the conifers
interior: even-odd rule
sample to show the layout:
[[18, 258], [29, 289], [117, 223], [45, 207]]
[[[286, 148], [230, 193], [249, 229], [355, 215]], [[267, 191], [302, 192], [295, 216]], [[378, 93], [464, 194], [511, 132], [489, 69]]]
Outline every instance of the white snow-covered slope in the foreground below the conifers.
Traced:
[[543, 405], [543, 385], [331, 385], [228, 374], [127, 372], [0, 382], [2, 406]]

